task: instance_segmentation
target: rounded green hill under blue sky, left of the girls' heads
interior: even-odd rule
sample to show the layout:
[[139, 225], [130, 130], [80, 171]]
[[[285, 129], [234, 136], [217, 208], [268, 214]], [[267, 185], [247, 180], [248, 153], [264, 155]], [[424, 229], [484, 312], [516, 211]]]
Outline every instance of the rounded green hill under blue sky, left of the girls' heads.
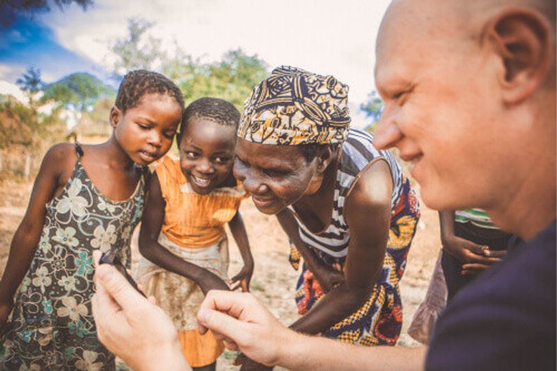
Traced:
[[99, 100], [116, 95], [116, 90], [86, 72], [69, 74], [43, 88], [47, 100], [74, 104], [78, 109], [93, 106]]

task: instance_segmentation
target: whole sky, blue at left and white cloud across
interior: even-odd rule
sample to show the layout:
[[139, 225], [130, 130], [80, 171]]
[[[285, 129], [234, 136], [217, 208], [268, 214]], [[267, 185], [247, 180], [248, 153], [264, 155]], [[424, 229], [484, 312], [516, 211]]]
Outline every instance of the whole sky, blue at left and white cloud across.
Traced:
[[72, 72], [109, 81], [110, 46], [127, 19], [145, 19], [171, 52], [214, 61], [231, 49], [257, 54], [270, 68], [295, 65], [333, 74], [350, 86], [352, 109], [374, 90], [375, 38], [389, 0], [94, 0], [83, 11], [52, 6], [0, 30], [0, 81], [14, 83], [29, 65], [54, 82]]

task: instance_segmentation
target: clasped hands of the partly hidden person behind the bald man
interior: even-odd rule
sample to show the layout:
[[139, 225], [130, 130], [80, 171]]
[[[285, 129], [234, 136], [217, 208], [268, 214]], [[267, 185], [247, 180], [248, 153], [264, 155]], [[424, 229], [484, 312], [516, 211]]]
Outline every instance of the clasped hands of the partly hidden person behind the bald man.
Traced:
[[488, 246], [475, 244], [467, 239], [453, 236], [443, 241], [445, 251], [462, 263], [462, 274], [479, 274], [500, 262], [506, 251], [489, 250]]

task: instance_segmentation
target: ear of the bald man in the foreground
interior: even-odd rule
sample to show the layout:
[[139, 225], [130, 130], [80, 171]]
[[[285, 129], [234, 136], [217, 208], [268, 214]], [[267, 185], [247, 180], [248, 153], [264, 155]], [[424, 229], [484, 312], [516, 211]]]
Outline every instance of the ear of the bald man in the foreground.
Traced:
[[542, 84], [554, 65], [554, 34], [547, 19], [535, 10], [515, 8], [497, 15], [487, 37], [503, 59], [499, 77], [503, 100], [521, 102]]

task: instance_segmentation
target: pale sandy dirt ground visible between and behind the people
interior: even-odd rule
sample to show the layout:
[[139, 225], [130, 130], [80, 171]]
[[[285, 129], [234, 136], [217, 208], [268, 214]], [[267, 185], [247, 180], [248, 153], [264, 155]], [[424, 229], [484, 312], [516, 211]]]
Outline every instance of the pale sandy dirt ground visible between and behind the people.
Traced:
[[[3, 271], [6, 265], [10, 242], [26, 210], [31, 187], [31, 181], [0, 180], [0, 271]], [[297, 273], [288, 263], [288, 239], [276, 219], [258, 212], [251, 200], [244, 202], [240, 211], [256, 262], [251, 291], [283, 324], [290, 324], [297, 319], [293, 299]], [[401, 281], [404, 324], [398, 345], [403, 347], [418, 344], [407, 335], [406, 331], [417, 306], [425, 297], [427, 284], [441, 246], [437, 212], [423, 204], [421, 211], [418, 232], [410, 249], [407, 269]], [[230, 235], [229, 241], [230, 276], [233, 276], [240, 269], [242, 258]], [[138, 254], [134, 246], [132, 250], [134, 260]], [[235, 370], [236, 368], [231, 365], [234, 358], [233, 352], [225, 352], [219, 358], [217, 369]], [[120, 366], [125, 368], [123, 365]]]

